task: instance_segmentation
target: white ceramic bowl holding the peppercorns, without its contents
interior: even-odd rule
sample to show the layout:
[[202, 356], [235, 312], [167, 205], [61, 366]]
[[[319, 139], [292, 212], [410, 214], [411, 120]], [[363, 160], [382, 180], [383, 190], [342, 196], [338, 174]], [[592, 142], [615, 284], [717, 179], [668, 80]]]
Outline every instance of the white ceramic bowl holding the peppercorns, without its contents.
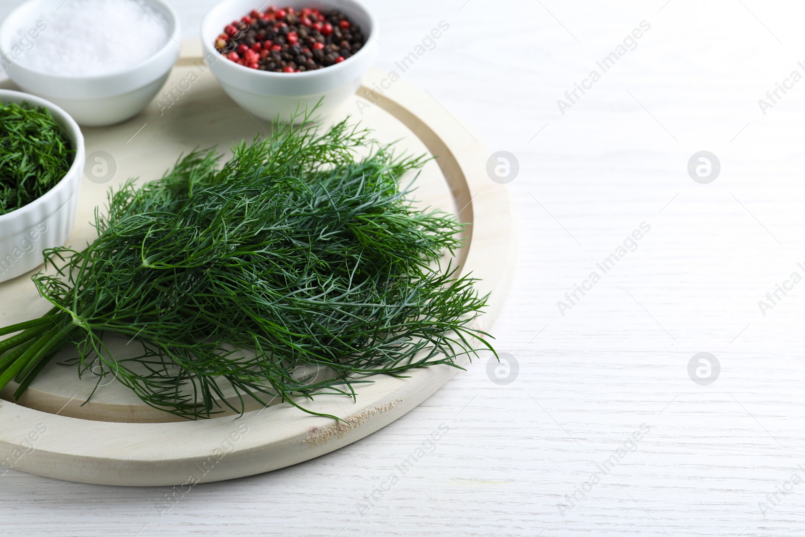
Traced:
[[229, 97], [255, 117], [287, 121], [301, 109], [312, 108], [324, 97], [317, 114], [327, 115], [352, 97], [361, 85], [361, 77], [378, 56], [378, 21], [357, 0], [287, 0], [278, 2], [301, 10], [303, 7], [336, 9], [357, 22], [366, 42], [353, 56], [339, 64], [307, 72], [267, 72], [238, 65], [221, 56], [215, 39], [233, 20], [240, 20], [251, 10], [265, 10], [262, 0], [225, 0], [209, 10], [201, 21], [201, 46], [204, 59]]

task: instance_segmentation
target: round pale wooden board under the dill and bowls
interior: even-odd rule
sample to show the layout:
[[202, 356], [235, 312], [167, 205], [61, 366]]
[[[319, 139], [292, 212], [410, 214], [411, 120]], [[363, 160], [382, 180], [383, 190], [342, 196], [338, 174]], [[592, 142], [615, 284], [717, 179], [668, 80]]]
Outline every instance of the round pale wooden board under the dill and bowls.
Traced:
[[[193, 73], [193, 74], [191, 74]], [[386, 79], [384, 81], [384, 79]], [[384, 93], [373, 88], [390, 85]], [[0, 86], [14, 89], [10, 83]], [[85, 128], [87, 155], [105, 151], [117, 166], [113, 180], [85, 177], [76, 230], [70, 243], [93, 240], [93, 210], [109, 186], [131, 176], [155, 179], [181, 152], [266, 134], [221, 90], [200, 58], [183, 56], [162, 93], [128, 122]], [[514, 226], [506, 188], [486, 173], [489, 151], [427, 92], [404, 81], [389, 84], [369, 72], [354, 101], [333, 119], [351, 115], [374, 129], [382, 142], [400, 140], [401, 151], [437, 158], [415, 180], [423, 205], [439, 207], [467, 222], [466, 245], [457, 254], [463, 274], [481, 279], [489, 307], [477, 321], [489, 330], [502, 308], [514, 271]], [[42, 315], [45, 302], [30, 274], [0, 284], [0, 324]], [[126, 351], [126, 341], [118, 351]], [[61, 358], [70, 357], [64, 349]], [[245, 415], [179, 420], [148, 407], [114, 379], [78, 378], [57, 358], [19, 401], [8, 386], [0, 397], [0, 464], [46, 477], [99, 485], [183, 485], [221, 481], [283, 468], [331, 452], [377, 431], [416, 407], [456, 373], [448, 366], [411, 372], [408, 378], [378, 376], [357, 387], [357, 402], [320, 396], [305, 406], [344, 422], [299, 411], [287, 403], [249, 407]]]

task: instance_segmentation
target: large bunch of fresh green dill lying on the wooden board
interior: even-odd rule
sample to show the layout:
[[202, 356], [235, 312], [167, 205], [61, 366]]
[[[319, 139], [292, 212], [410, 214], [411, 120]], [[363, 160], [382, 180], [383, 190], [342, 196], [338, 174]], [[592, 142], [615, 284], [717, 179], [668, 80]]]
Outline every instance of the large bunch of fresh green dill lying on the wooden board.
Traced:
[[[200, 418], [242, 412], [245, 397], [354, 397], [368, 375], [491, 349], [471, 326], [485, 297], [440, 262], [463, 226], [398, 185], [423, 160], [346, 122], [277, 129], [220, 169], [196, 151], [110, 192], [97, 240], [47, 251], [56, 273], [33, 277], [52, 310], [0, 330], [22, 330], [0, 341], [0, 387], [15, 378], [19, 397], [72, 344], [80, 371], [100, 365], [147, 404]], [[104, 333], [136, 337], [142, 355], [115, 359]]]

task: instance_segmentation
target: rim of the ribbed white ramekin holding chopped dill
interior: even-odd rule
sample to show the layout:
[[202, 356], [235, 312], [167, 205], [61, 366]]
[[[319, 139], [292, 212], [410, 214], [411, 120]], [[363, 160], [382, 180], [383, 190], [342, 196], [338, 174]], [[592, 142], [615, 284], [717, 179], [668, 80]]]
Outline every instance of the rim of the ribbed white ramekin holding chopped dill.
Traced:
[[[7, 97], [11, 97], [13, 101]], [[15, 91], [14, 89], [0, 89], [0, 103], [5, 104], [6, 102], [22, 101], [27, 101], [29, 104], [35, 106], [44, 106], [48, 109], [48, 111], [50, 111], [53, 119], [55, 119], [57, 123], [66, 123], [66, 126], [69, 128], [69, 130], [72, 131], [68, 132], [67, 134], [69, 138], [72, 138], [72, 142], [75, 144], [74, 149], [76, 152], [73, 154], [72, 164], [70, 164], [70, 167], [64, 173], [64, 176], [59, 180], [58, 183], [54, 184], [52, 188], [45, 192], [42, 196], [39, 196], [35, 200], [31, 201], [31, 203], [18, 207], [9, 213], [0, 214], [0, 225], [7, 224], [9, 221], [14, 220], [15, 218], [24, 218], [27, 216], [27, 213], [33, 213], [37, 209], [38, 205], [45, 204], [47, 201], [56, 197], [60, 190], [68, 188], [69, 179], [73, 176], [73, 174], [78, 175], [76, 184], [80, 184], [81, 174], [84, 173], [84, 134], [81, 134], [81, 128], [78, 126], [78, 123], [76, 123], [76, 120], [73, 119], [70, 114], [65, 112], [64, 109], [54, 105], [51, 101], [47, 101], [47, 99], [36, 97], [30, 93]], [[64, 125], [61, 125], [61, 127], [65, 131], [68, 130], [64, 128]]]

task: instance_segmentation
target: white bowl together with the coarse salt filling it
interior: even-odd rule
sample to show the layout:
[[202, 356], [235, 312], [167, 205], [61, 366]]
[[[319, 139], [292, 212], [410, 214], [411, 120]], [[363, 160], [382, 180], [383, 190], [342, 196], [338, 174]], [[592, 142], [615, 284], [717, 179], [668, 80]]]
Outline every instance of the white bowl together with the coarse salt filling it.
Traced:
[[29, 0], [0, 23], [0, 73], [81, 126], [113, 125], [155, 97], [179, 43], [162, 0]]

